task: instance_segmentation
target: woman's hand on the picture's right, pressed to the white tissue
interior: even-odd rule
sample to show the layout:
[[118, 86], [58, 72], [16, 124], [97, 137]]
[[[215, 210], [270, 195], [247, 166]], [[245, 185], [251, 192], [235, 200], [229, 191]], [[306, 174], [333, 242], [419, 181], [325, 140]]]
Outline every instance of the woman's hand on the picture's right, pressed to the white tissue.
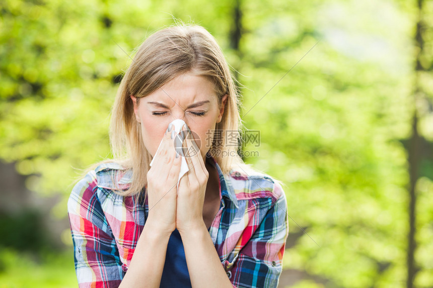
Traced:
[[[184, 126], [181, 133], [187, 135], [190, 132]], [[203, 204], [207, 179], [209, 178], [209, 173], [195, 141], [191, 137], [184, 138], [187, 138], [184, 140], [186, 151], [193, 151], [192, 149], [194, 149], [197, 153], [186, 155], [185, 159], [189, 170], [180, 179], [177, 193], [176, 228], [181, 234], [204, 226]]]

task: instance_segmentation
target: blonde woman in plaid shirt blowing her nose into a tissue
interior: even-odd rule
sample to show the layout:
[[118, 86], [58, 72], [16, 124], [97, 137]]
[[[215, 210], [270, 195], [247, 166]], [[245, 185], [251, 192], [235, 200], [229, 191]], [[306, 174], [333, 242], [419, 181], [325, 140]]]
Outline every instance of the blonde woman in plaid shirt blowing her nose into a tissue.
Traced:
[[[177, 25], [142, 43], [113, 106], [115, 160], [68, 200], [80, 287], [277, 286], [286, 199], [278, 181], [243, 163], [238, 138], [230, 145], [238, 106], [204, 28]], [[176, 119], [186, 123], [179, 135]]]

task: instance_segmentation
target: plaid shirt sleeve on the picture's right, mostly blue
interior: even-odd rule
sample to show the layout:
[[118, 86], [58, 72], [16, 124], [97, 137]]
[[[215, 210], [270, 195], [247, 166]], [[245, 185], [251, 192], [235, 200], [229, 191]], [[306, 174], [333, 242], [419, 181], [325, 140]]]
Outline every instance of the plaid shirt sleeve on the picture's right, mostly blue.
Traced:
[[228, 276], [234, 287], [276, 288], [282, 270], [282, 256], [288, 236], [287, 202], [279, 183], [272, 201], [257, 230], [239, 251]]

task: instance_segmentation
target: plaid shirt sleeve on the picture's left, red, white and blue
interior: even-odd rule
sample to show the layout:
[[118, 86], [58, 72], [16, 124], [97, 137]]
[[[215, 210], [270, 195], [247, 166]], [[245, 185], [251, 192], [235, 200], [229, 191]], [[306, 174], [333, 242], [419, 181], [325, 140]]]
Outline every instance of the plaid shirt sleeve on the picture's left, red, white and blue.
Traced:
[[91, 171], [74, 186], [67, 202], [78, 284], [118, 287], [125, 272], [96, 191], [96, 174]]

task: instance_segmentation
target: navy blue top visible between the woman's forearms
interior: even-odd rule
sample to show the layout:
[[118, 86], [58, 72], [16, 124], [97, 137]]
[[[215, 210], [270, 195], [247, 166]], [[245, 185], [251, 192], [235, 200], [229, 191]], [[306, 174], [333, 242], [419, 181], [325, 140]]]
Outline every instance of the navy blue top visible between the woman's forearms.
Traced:
[[160, 287], [191, 287], [185, 250], [183, 249], [182, 238], [177, 229], [171, 233], [168, 240]]

